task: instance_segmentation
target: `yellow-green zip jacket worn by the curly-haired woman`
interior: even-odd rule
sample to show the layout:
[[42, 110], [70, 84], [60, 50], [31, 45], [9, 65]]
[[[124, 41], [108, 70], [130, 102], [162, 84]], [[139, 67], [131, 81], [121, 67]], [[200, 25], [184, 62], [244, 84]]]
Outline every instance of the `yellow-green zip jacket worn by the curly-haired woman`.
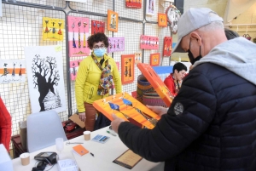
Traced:
[[[100, 62], [101, 58], [96, 58]], [[105, 61], [108, 60], [108, 65], [111, 66], [111, 74], [113, 75], [114, 88], [117, 94], [122, 92], [121, 78], [119, 71], [113, 58], [104, 54], [104, 62], [102, 67], [105, 67]], [[96, 65], [91, 56], [85, 58], [79, 65], [78, 75], [75, 83], [75, 94], [79, 112], [84, 112], [84, 102], [92, 104], [95, 100], [100, 100], [108, 94], [97, 94], [97, 89], [102, 76], [102, 71]]]

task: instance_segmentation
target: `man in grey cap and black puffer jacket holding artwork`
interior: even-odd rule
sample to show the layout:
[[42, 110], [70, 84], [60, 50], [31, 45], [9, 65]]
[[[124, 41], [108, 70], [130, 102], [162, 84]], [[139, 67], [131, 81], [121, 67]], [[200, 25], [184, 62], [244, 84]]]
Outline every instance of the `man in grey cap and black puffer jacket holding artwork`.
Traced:
[[113, 130], [138, 155], [165, 161], [165, 170], [255, 171], [256, 45], [227, 41], [211, 9], [189, 9], [177, 28], [173, 52], [188, 52], [195, 64], [167, 114], [152, 130], [113, 115]]

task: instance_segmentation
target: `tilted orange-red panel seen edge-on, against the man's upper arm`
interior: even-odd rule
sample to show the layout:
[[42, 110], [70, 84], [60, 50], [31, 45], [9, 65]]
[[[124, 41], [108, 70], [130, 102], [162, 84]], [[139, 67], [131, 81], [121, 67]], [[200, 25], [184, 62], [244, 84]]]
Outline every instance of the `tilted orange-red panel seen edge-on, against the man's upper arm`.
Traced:
[[161, 80], [161, 78], [155, 73], [152, 66], [148, 64], [140, 63], [137, 64], [137, 67], [142, 71], [143, 76], [147, 78], [148, 82], [152, 85], [157, 94], [160, 95], [160, 98], [164, 100], [166, 106], [172, 104], [174, 96], [170, 90], [166, 87], [166, 84]]

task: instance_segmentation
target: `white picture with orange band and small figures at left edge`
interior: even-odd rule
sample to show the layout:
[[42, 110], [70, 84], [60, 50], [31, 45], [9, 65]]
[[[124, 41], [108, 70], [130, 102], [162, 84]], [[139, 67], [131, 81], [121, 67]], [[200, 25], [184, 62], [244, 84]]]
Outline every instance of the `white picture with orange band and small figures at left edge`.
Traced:
[[25, 67], [25, 60], [0, 60], [0, 83], [24, 83]]

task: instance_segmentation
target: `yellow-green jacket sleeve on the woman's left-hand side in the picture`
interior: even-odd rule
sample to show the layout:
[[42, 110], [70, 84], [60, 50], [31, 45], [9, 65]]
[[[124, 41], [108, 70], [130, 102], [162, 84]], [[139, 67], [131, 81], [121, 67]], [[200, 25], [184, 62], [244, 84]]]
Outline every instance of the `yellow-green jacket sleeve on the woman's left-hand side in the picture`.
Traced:
[[88, 76], [88, 69], [85, 61], [83, 60], [79, 65], [79, 71], [76, 77], [75, 84], [75, 95], [76, 102], [79, 112], [84, 112], [84, 84], [86, 82]]

